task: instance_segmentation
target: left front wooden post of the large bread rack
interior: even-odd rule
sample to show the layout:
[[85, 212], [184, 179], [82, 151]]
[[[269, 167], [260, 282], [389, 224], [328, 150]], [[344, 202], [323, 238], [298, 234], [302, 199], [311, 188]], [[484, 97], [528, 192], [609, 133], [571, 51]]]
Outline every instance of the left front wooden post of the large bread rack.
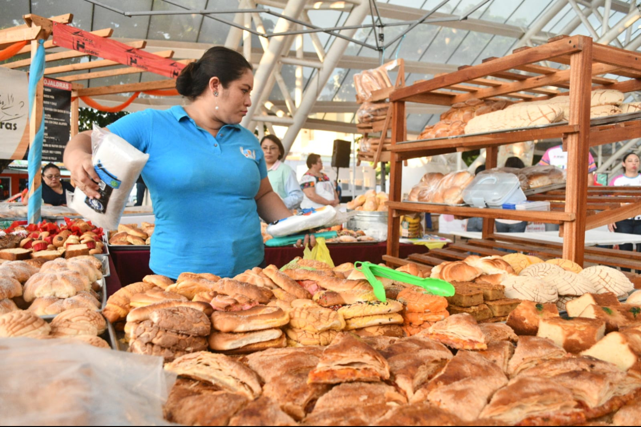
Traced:
[[[405, 102], [392, 102], [392, 146], [407, 139], [405, 129]], [[395, 152], [390, 152], [390, 200], [400, 202], [403, 163]], [[401, 234], [401, 218], [395, 214], [395, 209], [388, 208], [387, 218], [387, 255], [399, 256], [399, 237]]]

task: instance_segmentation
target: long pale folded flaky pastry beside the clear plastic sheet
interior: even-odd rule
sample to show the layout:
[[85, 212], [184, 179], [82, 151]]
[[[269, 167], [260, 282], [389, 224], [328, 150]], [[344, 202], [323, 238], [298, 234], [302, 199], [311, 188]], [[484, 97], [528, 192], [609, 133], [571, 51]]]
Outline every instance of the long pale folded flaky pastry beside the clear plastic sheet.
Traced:
[[177, 375], [219, 385], [252, 400], [262, 392], [260, 380], [254, 371], [221, 354], [208, 351], [190, 353], [166, 364], [165, 369]]

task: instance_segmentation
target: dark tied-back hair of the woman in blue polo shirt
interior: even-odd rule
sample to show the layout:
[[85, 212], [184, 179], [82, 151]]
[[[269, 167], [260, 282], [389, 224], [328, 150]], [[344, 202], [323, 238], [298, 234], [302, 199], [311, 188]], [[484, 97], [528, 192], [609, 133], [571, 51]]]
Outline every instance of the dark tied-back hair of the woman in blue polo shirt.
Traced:
[[176, 90], [194, 101], [209, 86], [212, 77], [218, 77], [222, 87], [240, 79], [246, 70], [253, 70], [242, 54], [223, 46], [214, 46], [196, 62], [187, 64], [176, 79]]

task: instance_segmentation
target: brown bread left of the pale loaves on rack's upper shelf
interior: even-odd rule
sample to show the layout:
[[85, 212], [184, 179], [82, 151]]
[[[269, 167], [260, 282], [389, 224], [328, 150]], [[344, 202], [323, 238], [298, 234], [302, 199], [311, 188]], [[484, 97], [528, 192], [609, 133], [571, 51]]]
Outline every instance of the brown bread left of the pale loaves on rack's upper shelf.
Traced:
[[440, 121], [428, 125], [419, 135], [419, 140], [431, 138], [444, 138], [445, 136], [456, 136], [465, 133], [465, 125], [474, 117], [480, 117], [492, 111], [499, 111], [512, 104], [510, 101], [481, 101], [480, 99], [468, 99], [465, 102], [456, 102], [452, 108], [440, 115]]

